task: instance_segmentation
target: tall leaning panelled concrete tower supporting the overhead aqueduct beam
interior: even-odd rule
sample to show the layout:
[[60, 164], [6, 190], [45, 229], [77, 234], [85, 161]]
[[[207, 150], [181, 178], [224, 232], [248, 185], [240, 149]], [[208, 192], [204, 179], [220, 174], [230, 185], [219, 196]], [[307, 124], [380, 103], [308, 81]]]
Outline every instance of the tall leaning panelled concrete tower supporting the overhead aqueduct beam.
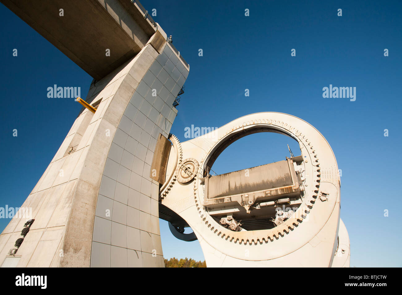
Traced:
[[[92, 82], [86, 101], [95, 114], [81, 110], [22, 205], [35, 222], [17, 267], [164, 266], [150, 165], [189, 72], [164, 40], [158, 30], [135, 57]], [[0, 263], [11, 258], [26, 220], [17, 215], [2, 232]]]

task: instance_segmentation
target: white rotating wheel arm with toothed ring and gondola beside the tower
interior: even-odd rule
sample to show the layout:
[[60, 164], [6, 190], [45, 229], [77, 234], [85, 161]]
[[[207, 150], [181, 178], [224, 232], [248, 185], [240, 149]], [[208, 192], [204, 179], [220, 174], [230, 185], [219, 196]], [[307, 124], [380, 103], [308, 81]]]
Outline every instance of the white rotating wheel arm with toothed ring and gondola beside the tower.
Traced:
[[[226, 147], [257, 132], [297, 140], [301, 155], [211, 176]], [[199, 240], [208, 267], [349, 267], [338, 165], [304, 120], [263, 112], [186, 142], [160, 136], [151, 171], [160, 182], [160, 218], [176, 238]]]

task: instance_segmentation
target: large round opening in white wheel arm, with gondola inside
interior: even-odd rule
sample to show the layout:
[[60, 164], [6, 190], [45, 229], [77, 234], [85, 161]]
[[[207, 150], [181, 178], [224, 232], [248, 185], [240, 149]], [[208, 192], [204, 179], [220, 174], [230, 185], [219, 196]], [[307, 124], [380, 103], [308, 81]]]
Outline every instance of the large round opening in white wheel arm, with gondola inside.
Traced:
[[[274, 228], [301, 205], [304, 162], [299, 143], [273, 132], [223, 142], [206, 167], [205, 208], [234, 231]], [[208, 165], [207, 163], [207, 165]]]

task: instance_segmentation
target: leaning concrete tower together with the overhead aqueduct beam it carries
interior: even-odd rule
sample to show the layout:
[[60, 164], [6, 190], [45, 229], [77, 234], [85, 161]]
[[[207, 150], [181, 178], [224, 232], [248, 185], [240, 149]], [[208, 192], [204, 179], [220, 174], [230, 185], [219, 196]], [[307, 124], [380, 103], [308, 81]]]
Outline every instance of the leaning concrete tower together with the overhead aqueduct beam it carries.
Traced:
[[21, 236], [23, 214], [2, 232], [0, 263], [164, 267], [159, 183], [150, 168], [158, 138], [168, 137], [176, 117], [189, 65], [138, 1], [2, 2], [94, 80], [90, 107], [21, 206], [32, 210], [29, 232]]

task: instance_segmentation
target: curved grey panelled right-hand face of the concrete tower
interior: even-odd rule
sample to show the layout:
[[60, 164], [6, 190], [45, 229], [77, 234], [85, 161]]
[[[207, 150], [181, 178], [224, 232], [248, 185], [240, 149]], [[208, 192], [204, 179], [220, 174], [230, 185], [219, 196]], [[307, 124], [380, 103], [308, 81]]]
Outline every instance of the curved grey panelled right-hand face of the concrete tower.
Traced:
[[[152, 159], [158, 157], [154, 157], [155, 153], [159, 154], [160, 167], [156, 163], [154, 167], [161, 177], [166, 175], [159, 171], [166, 171], [164, 161], [168, 158], [171, 145], [166, 138], [177, 114], [172, 106], [176, 96], [166, 88], [168, 80], [172, 79], [167, 61], [177, 64], [178, 57], [167, 45], [159, 55], [156, 55], [152, 44], [146, 48], [147, 53], [144, 51], [139, 55], [128, 70], [130, 73], [138, 64], [142, 69], [141, 81], [133, 85], [133, 92], [127, 90], [117, 96], [119, 100], [127, 101], [127, 106], [125, 110], [121, 109], [123, 114], [113, 137], [99, 188], [93, 223], [91, 267], [164, 266], [158, 218], [159, 184], [152, 178], [151, 165]], [[152, 62], [151, 57], [155, 57]], [[159, 61], [163, 60], [165, 63], [162, 65]], [[147, 70], [143, 64], [148, 66]], [[119, 79], [126, 81], [127, 76]], [[178, 84], [175, 82], [175, 85]], [[132, 95], [131, 99], [127, 95]], [[158, 151], [155, 149], [159, 138], [161, 145]]]

